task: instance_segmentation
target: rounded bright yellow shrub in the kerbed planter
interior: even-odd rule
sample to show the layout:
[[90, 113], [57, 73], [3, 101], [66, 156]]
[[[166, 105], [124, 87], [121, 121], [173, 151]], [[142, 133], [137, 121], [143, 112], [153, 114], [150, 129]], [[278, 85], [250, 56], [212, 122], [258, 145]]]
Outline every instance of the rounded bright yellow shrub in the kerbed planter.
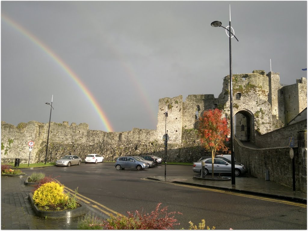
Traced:
[[48, 182], [34, 191], [33, 200], [39, 206], [58, 205], [67, 200], [67, 195], [63, 192], [63, 186]]

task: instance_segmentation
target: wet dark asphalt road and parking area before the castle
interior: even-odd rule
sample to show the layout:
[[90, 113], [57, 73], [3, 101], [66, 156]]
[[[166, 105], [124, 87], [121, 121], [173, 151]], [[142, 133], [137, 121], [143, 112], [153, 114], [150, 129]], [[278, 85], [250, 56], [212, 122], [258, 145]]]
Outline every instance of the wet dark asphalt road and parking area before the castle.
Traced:
[[[137, 171], [116, 170], [114, 163], [82, 163], [80, 166], [48, 167], [36, 170], [56, 177], [66, 187], [118, 213], [138, 210], [150, 213], [159, 202], [168, 212], [181, 212], [175, 218], [180, 225], [174, 229], [188, 229], [205, 219], [206, 225], [216, 229], [307, 229], [306, 208], [240, 196], [236, 193], [208, 190], [195, 186], [148, 181], [144, 178], [164, 176], [165, 166]], [[167, 176], [191, 176], [192, 166], [167, 165]], [[266, 199], [266, 198], [265, 198]]]

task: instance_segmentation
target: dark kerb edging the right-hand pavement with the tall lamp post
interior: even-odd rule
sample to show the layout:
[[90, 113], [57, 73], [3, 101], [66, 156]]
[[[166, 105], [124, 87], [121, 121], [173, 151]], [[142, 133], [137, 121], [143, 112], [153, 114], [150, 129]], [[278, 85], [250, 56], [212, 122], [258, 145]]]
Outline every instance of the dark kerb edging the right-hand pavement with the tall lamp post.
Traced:
[[[159, 179], [150, 178], [150, 177], [147, 177], [147, 179], [161, 181]], [[226, 191], [231, 191], [231, 192], [251, 194], [251, 195], [257, 195], [257, 196], [263, 196], [263, 197], [269, 197], [269, 198], [276, 198], [276, 199], [281, 199], [281, 200], [286, 200], [286, 201], [291, 201], [291, 202], [298, 202], [298, 203], [302, 203], [302, 204], [307, 204], [307, 199], [302, 199], [302, 198], [294, 198], [294, 197], [287, 197], [287, 196], [280, 196], [280, 195], [257, 193], [257, 192], [247, 191], [247, 190], [230, 189], [230, 188], [223, 188], [223, 187], [217, 187], [217, 186], [199, 185], [199, 184], [188, 183], [188, 182], [180, 182], [180, 181], [172, 181], [172, 183], [177, 183], [177, 184], [182, 184], [182, 185], [198, 186], [198, 187], [202, 187], [202, 188], [220, 189], [220, 190], [226, 190]]]

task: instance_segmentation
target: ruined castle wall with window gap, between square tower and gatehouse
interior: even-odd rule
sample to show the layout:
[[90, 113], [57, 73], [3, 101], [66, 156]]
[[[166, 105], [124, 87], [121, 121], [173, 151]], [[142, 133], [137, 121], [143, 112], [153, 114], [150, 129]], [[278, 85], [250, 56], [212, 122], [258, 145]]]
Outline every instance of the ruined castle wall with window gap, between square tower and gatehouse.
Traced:
[[217, 103], [214, 95], [188, 95], [183, 103], [183, 127], [196, 128], [198, 117], [205, 110], [217, 108]]

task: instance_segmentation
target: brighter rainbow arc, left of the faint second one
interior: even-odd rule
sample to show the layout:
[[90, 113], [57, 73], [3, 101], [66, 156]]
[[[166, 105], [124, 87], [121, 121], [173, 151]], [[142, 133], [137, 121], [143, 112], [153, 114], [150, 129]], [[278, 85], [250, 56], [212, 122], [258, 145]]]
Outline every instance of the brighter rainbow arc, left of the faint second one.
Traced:
[[43, 44], [43, 42], [39, 41], [38, 38], [36, 38], [33, 34], [26, 31], [24, 28], [22, 28], [21, 25], [17, 24], [13, 20], [11, 20], [9, 17], [7, 17], [4, 14], [1, 14], [1, 18], [4, 19], [4, 21], [12, 26], [14, 29], [16, 29], [18, 32], [20, 32], [22, 35], [30, 39], [35, 45], [38, 45], [45, 53], [47, 53], [59, 66], [68, 74], [68, 76], [71, 77], [72, 80], [75, 81], [75, 83], [79, 86], [79, 88], [82, 90], [82, 92], [87, 96], [88, 100], [91, 102], [93, 108], [99, 115], [99, 118], [103, 122], [104, 127], [106, 130], [113, 131], [113, 128], [111, 126], [111, 123], [107, 119], [106, 114], [103, 112], [103, 110], [100, 108], [98, 102], [95, 100], [94, 96], [91, 94], [91, 92], [87, 89], [85, 84], [79, 79], [79, 77], [69, 68], [67, 64], [64, 63], [63, 60], [61, 60], [60, 57], [58, 57], [51, 49], [47, 47], [47, 45]]

